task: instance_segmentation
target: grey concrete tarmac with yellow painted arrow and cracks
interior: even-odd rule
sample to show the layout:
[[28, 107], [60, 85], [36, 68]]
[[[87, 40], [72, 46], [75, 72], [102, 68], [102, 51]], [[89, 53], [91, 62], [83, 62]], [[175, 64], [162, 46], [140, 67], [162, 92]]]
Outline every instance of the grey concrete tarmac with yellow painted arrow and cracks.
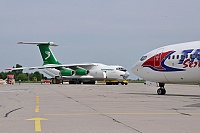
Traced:
[[1, 133], [199, 133], [200, 87], [0, 86]]

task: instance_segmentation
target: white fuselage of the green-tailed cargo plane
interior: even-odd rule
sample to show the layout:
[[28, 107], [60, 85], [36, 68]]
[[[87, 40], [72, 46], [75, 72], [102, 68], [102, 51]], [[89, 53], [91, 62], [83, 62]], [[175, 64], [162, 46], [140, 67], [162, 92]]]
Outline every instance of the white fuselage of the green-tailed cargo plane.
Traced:
[[[87, 75], [79, 76], [62, 76], [64, 79], [78, 79], [81, 81], [90, 81], [90, 80], [118, 80], [119, 82], [125, 80], [129, 76], [129, 72], [124, 69], [122, 66], [111, 66], [104, 65], [100, 63], [92, 63], [93, 66], [86, 66], [84, 69], [89, 70]], [[46, 68], [43, 70], [46, 74], [51, 77], [61, 76], [60, 71], [55, 68]]]

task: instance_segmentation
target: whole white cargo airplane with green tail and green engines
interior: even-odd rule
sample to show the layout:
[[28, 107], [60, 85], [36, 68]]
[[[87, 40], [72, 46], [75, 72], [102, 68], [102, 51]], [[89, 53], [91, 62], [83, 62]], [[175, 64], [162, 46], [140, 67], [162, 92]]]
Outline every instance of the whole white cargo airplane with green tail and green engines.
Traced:
[[95, 81], [105, 81], [107, 85], [127, 84], [129, 72], [122, 66], [105, 65], [101, 63], [61, 64], [54, 56], [49, 46], [58, 46], [54, 42], [18, 42], [39, 47], [43, 65], [36, 67], [7, 68], [6, 70], [43, 69], [56, 79], [65, 79], [69, 84], [95, 84]]

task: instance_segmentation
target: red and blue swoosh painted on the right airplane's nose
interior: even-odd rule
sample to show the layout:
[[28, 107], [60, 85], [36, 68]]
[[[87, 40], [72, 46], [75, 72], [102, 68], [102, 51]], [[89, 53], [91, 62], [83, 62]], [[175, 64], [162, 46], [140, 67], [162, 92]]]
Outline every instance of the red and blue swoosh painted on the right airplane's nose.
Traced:
[[176, 51], [158, 53], [152, 56], [151, 58], [149, 58], [147, 61], [145, 61], [142, 64], [142, 66], [149, 67], [152, 70], [159, 71], [159, 72], [185, 71], [185, 69], [173, 68], [173, 67], [165, 65], [166, 59], [174, 52]]

